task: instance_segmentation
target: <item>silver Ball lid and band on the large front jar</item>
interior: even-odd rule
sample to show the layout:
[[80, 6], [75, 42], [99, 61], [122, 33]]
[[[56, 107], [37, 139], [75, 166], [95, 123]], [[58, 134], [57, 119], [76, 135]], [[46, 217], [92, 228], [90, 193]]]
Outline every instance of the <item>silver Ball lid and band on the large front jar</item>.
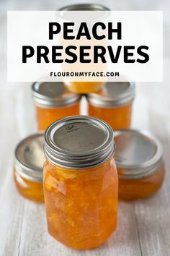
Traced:
[[112, 128], [91, 116], [68, 116], [45, 131], [45, 155], [65, 168], [90, 168], [104, 163], [115, 152]]

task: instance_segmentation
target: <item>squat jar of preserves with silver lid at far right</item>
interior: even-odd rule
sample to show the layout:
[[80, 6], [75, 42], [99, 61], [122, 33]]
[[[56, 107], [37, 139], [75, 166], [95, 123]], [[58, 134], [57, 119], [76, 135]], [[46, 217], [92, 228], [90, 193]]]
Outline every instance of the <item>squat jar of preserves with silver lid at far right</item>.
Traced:
[[158, 191], [165, 172], [160, 142], [148, 132], [120, 129], [115, 143], [120, 199], [137, 200]]

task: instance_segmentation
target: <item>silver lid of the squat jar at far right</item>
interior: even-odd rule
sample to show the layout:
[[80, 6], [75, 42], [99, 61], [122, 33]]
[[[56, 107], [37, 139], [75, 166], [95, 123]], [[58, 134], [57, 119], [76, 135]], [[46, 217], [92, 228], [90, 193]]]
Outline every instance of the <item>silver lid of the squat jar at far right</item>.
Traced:
[[160, 166], [163, 149], [161, 143], [148, 132], [135, 129], [115, 131], [115, 161], [122, 179], [141, 179]]

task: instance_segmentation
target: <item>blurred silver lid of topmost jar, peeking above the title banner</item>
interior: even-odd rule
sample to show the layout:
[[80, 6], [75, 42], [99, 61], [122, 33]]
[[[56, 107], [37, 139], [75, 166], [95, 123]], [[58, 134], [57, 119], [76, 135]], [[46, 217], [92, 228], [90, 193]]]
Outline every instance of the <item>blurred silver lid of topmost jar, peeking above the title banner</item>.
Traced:
[[71, 4], [62, 7], [59, 11], [109, 11], [102, 4]]

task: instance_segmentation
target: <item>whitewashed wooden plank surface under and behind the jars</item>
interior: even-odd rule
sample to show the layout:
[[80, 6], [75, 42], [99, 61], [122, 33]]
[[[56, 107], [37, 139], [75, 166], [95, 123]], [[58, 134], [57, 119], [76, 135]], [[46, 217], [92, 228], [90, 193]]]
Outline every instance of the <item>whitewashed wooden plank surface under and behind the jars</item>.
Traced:
[[[2, 2], [5, 3], [1, 1], [0, 5]], [[13, 3], [9, 1], [11, 2]], [[15, 9], [24, 9], [22, 1], [17, 2], [20, 8]], [[53, 7], [52, 1], [47, 1], [45, 7], [48, 6], [48, 2], [49, 8], [47, 9], [53, 9], [50, 8]], [[111, 1], [107, 2], [111, 3]], [[134, 1], [130, 2], [134, 4]], [[30, 1], [30, 3], [27, 9], [38, 9], [36, 5], [34, 8], [35, 1]], [[40, 4], [40, 1], [38, 3]], [[123, 3], [127, 4], [127, 1]], [[132, 9], [135, 9], [135, 5], [132, 6]], [[3, 5], [4, 10], [13, 9], [10, 4], [9, 8], [7, 7]], [[146, 8], [144, 6], [141, 9]], [[150, 9], [154, 8], [151, 6]], [[76, 251], [59, 244], [48, 234], [45, 206], [22, 198], [14, 185], [12, 176], [14, 148], [19, 140], [36, 131], [36, 125], [30, 84], [6, 82], [6, 19], [3, 15], [0, 15], [0, 38], [3, 38], [0, 41], [0, 255], [170, 255], [170, 61], [168, 48], [165, 50], [167, 54], [164, 61], [164, 83], [138, 85], [133, 108], [133, 127], [148, 129], [164, 145], [166, 165], [164, 185], [156, 195], [147, 200], [119, 202], [118, 226], [115, 234], [112, 234], [107, 242], [97, 249]], [[84, 103], [83, 113], [85, 113], [85, 107]]]

